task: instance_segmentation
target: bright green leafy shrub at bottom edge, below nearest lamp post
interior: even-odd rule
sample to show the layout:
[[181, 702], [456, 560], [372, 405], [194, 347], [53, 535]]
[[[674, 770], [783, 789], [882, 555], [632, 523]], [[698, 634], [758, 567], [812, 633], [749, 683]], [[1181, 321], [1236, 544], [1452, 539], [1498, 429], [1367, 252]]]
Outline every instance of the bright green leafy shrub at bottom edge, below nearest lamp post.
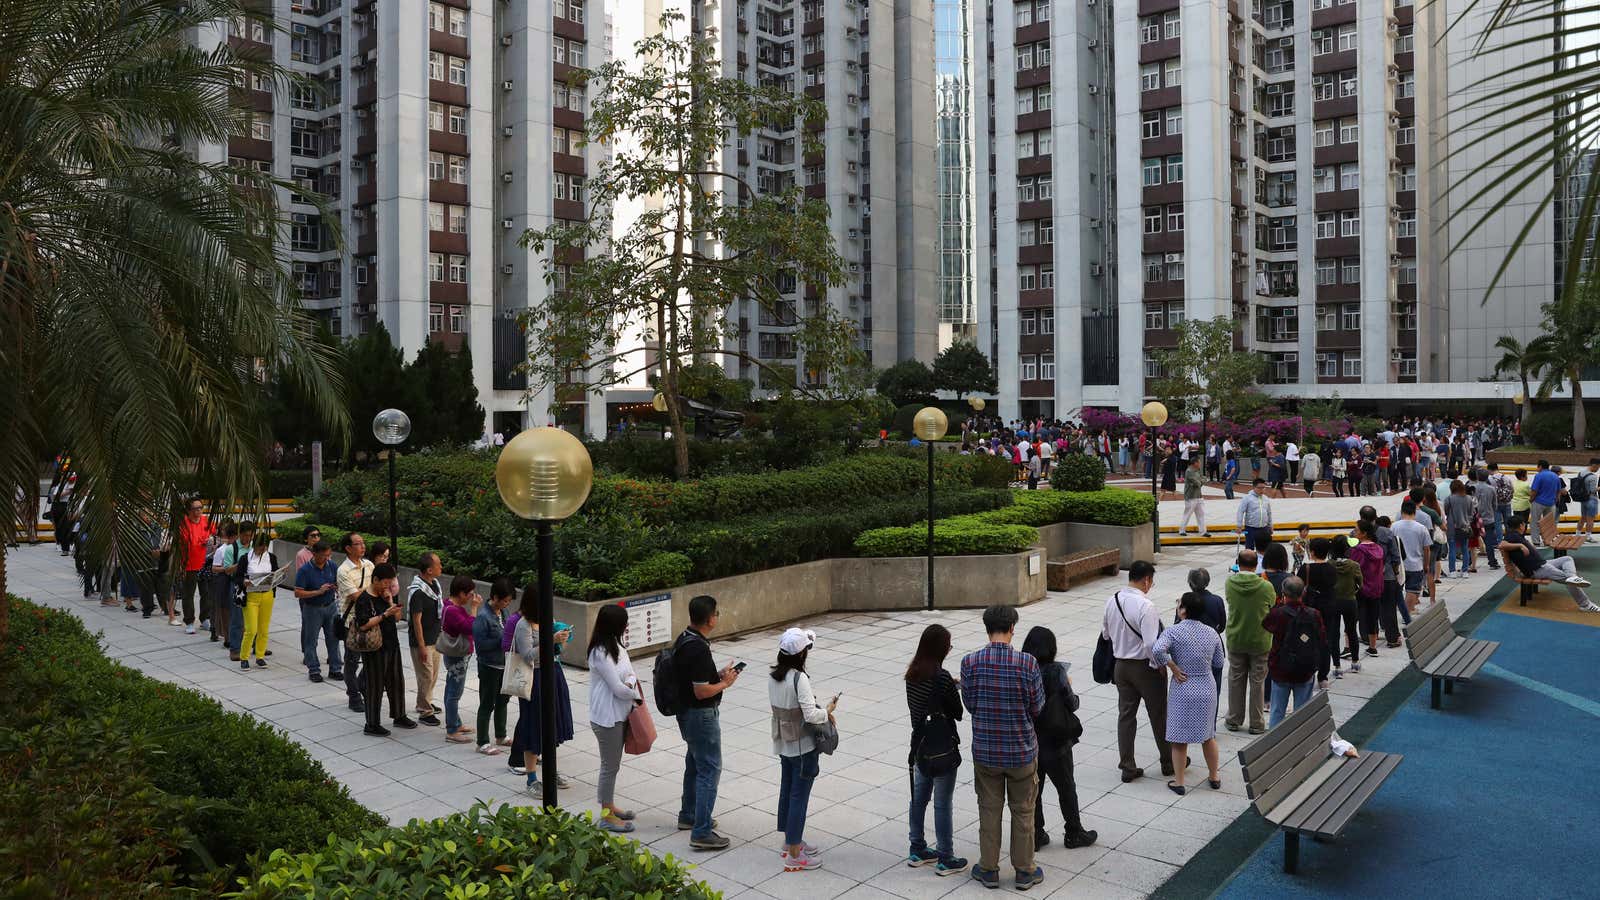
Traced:
[[[448, 890], [448, 894], [445, 894]], [[277, 850], [230, 897], [618, 897], [710, 900], [688, 866], [610, 836], [589, 817], [475, 804], [466, 812]]]

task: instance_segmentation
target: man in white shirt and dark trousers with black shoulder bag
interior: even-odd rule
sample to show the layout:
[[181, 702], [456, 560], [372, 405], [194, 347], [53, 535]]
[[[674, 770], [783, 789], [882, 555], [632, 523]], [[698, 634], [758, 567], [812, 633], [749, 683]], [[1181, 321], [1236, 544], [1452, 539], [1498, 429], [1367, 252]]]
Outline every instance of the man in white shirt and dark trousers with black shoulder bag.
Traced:
[[1144, 775], [1144, 769], [1133, 759], [1141, 700], [1150, 717], [1162, 775], [1173, 775], [1173, 757], [1166, 751], [1166, 676], [1154, 658], [1155, 639], [1162, 633], [1162, 621], [1149, 597], [1154, 585], [1155, 565], [1136, 559], [1128, 567], [1128, 586], [1106, 601], [1101, 623], [1101, 637], [1110, 639], [1112, 657], [1117, 658], [1112, 684], [1117, 685], [1117, 751], [1122, 756], [1117, 767], [1122, 769], [1123, 783]]

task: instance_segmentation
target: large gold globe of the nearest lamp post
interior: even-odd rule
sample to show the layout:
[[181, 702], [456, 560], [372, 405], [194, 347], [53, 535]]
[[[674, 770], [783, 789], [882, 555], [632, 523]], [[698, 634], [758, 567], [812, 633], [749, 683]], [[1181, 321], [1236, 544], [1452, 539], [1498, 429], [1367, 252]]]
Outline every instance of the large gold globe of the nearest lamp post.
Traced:
[[594, 461], [581, 440], [558, 428], [530, 428], [512, 437], [494, 464], [506, 508], [523, 519], [566, 519], [589, 500]]

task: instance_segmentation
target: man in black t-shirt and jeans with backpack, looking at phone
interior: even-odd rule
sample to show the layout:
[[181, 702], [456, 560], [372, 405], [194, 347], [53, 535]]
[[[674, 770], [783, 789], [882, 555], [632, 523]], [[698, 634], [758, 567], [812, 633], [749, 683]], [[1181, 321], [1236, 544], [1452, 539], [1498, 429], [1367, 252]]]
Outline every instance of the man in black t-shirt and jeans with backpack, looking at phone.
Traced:
[[[690, 831], [690, 847], [725, 850], [717, 834], [717, 783], [722, 780], [722, 693], [739, 681], [734, 666], [717, 668], [707, 636], [717, 629], [717, 597], [690, 599], [690, 626], [674, 642], [672, 668], [678, 677], [678, 730], [683, 732], [683, 802], [678, 831]], [[741, 666], [742, 668], [742, 666]], [[528, 770], [533, 772], [531, 769]]]

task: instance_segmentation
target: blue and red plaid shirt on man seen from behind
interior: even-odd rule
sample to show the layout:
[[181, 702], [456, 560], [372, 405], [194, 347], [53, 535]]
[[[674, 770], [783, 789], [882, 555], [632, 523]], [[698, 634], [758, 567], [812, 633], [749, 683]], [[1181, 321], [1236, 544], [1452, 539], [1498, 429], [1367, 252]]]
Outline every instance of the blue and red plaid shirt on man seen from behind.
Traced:
[[1038, 756], [1034, 719], [1045, 708], [1038, 661], [1010, 644], [962, 658], [962, 700], [973, 716], [973, 762], [1016, 769]]

